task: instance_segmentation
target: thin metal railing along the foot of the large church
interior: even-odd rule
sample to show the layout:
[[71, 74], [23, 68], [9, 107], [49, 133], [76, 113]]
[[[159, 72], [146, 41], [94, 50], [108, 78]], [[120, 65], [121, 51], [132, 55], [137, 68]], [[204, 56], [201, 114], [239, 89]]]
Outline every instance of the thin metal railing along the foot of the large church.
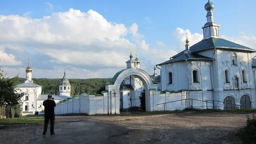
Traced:
[[[189, 104], [190, 104], [190, 100], [191, 100], [191, 105], [190, 106], [187, 106], [187, 100], [189, 100]], [[217, 101], [217, 100], [199, 100], [199, 99], [193, 99], [193, 98], [180, 99], [180, 100], [175, 100], [175, 101], [171, 101], [171, 102], [161, 103], [161, 104], [157, 104], [157, 105], [163, 105], [164, 104], [164, 111], [165, 111], [165, 104], [174, 103], [174, 102], [178, 102], [178, 101], [185, 101], [185, 109], [186, 109], [186, 108], [193, 108], [193, 100], [194, 101], [203, 102], [203, 104], [206, 103], [206, 105], [197, 105], [196, 106], [196, 107], [204, 107], [204, 106], [206, 106], [206, 109], [208, 109], [208, 106], [212, 106], [213, 109], [217, 109], [217, 105], [218, 106], [219, 105], [224, 105], [224, 107], [225, 107], [224, 109], [227, 109], [227, 110], [229, 110], [229, 109], [241, 109], [241, 107], [243, 107], [245, 109], [246, 108], [248, 108], [248, 109], [255, 109], [255, 108], [248, 107], [248, 106], [236, 105], [236, 104], [221, 102], [221, 101]], [[218, 102], [218, 103], [216, 103], [216, 102]], [[209, 103], [213, 104], [213, 105], [208, 105]], [[222, 104], [219, 104], [219, 103], [222, 103]]]

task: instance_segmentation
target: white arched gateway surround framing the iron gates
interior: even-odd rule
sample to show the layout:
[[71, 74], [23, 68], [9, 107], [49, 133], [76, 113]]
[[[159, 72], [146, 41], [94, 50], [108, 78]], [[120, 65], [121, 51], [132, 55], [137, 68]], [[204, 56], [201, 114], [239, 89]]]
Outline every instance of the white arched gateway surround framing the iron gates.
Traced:
[[[117, 72], [112, 78], [111, 82], [107, 83], [106, 90], [109, 92], [109, 113], [119, 113], [120, 106], [120, 85], [123, 80], [130, 76], [136, 76], [144, 85], [145, 90], [145, 107], [146, 111], [152, 111], [150, 97], [150, 90], [156, 90], [158, 84], [154, 84], [149, 74], [139, 68], [128, 68]], [[113, 98], [114, 97], [114, 98]]]

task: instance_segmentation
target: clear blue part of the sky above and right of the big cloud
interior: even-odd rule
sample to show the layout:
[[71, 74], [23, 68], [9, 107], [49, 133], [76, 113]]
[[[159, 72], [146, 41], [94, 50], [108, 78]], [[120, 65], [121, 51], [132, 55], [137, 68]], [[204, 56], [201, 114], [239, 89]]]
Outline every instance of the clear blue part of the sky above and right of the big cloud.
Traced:
[[[191, 34], [202, 34], [206, 22], [204, 5], [208, 0], [6, 0], [0, 2], [0, 15], [28, 15], [32, 19], [51, 16], [52, 13], [68, 12], [70, 8], [87, 13], [88, 10], [101, 14], [108, 22], [124, 24], [126, 28], [133, 23], [138, 25], [138, 33], [152, 48], [158, 49], [156, 41], [180, 52], [180, 41], [172, 33], [177, 27], [189, 30]], [[255, 0], [211, 0], [215, 22], [220, 25], [220, 34], [230, 39], [240, 39], [241, 35], [255, 35]], [[52, 5], [52, 7], [50, 7]], [[131, 40], [127, 34], [126, 39]], [[13, 51], [5, 49], [12, 54]], [[33, 53], [34, 50], [27, 51]], [[146, 57], [146, 56], [145, 56]], [[171, 56], [170, 56], [171, 57]], [[17, 60], [17, 56], [16, 56]], [[145, 60], [148, 61], [149, 59]], [[166, 59], [168, 60], [168, 59]], [[22, 60], [21, 60], [22, 61]], [[36, 60], [35, 60], [36, 61]], [[156, 60], [152, 60], [156, 61]], [[146, 69], [151, 70], [153, 62]], [[157, 61], [160, 63], [162, 61]], [[23, 66], [26, 65], [23, 62]], [[7, 65], [5, 65], [7, 66]], [[12, 67], [12, 66], [9, 66]], [[37, 67], [38, 68], [38, 67]], [[114, 75], [114, 73], [113, 73]]]

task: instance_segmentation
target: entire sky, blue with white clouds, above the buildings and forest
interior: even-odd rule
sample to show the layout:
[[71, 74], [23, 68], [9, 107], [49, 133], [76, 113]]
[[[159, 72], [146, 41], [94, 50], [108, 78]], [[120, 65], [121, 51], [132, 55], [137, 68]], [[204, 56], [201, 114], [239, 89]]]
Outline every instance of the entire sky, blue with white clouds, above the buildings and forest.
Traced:
[[[0, 2], [0, 69], [25, 78], [112, 78], [130, 51], [140, 68], [203, 39], [208, 0], [5, 0]], [[256, 49], [255, 0], [211, 0], [220, 37]], [[252, 54], [253, 56], [255, 54]], [[158, 71], [158, 74], [160, 72]]]

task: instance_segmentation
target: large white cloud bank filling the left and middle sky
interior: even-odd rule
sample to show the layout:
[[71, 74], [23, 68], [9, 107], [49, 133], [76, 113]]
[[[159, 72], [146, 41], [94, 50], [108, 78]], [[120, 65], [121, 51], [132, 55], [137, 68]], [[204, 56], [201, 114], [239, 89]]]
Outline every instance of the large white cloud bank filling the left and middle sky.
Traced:
[[[33, 76], [36, 77], [59, 78], [57, 71], [64, 65], [70, 65], [72, 72], [79, 73], [71, 75], [74, 78], [112, 77], [126, 66], [131, 48], [133, 55], [138, 51], [141, 63], [149, 59], [160, 63], [175, 53], [151, 48], [143, 40], [144, 35], [138, 33], [136, 23], [129, 27], [108, 22], [93, 10], [83, 13], [71, 8], [68, 12], [52, 13], [40, 19], [0, 15], [0, 31], [0, 52], [13, 52], [6, 59], [16, 59], [16, 65], [23, 61], [23, 65], [15, 70], [3, 62], [8, 73], [14, 75], [24, 73], [27, 58], [30, 58], [31, 65], [35, 66]], [[129, 34], [131, 41], [125, 38]], [[153, 63], [147, 62], [147, 65]]]

